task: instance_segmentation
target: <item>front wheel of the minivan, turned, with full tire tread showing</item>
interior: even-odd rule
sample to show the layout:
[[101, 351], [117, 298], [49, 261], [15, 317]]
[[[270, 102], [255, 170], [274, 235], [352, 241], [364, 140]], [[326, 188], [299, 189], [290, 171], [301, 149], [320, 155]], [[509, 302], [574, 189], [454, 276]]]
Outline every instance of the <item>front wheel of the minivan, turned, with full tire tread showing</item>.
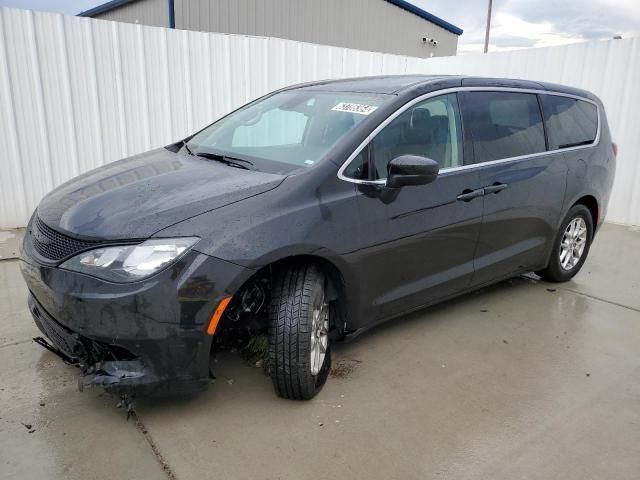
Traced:
[[329, 311], [325, 277], [317, 267], [291, 268], [275, 279], [269, 346], [278, 396], [309, 400], [322, 389], [331, 369]]

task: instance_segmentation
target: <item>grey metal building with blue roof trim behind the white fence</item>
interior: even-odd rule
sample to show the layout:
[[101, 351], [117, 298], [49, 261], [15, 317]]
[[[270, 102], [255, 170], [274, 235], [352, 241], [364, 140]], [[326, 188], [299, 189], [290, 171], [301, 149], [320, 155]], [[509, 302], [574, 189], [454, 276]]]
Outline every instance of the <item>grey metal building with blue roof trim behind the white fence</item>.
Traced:
[[455, 55], [462, 34], [405, 0], [113, 0], [79, 15], [422, 58]]

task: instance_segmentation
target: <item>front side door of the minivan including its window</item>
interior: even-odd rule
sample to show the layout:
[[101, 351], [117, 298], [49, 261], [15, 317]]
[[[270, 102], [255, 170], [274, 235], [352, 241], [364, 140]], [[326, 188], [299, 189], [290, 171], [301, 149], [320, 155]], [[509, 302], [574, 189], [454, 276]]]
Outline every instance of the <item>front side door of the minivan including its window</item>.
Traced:
[[[390, 192], [358, 185], [361, 310], [370, 321], [416, 309], [469, 286], [482, 218], [477, 169], [464, 167], [456, 94], [429, 98], [405, 110], [372, 140], [369, 178], [386, 178], [388, 163], [419, 155], [440, 164], [428, 185]], [[474, 194], [473, 192], [476, 192]], [[460, 197], [460, 198], [459, 198]]]

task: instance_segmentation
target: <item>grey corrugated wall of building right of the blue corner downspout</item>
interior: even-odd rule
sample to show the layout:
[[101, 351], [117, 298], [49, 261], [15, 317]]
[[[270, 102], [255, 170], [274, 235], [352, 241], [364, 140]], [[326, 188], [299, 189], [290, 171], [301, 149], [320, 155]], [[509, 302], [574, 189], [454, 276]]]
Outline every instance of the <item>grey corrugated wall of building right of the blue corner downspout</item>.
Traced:
[[[456, 34], [386, 0], [176, 0], [175, 9], [176, 28], [185, 30], [264, 35], [423, 58], [455, 55], [458, 46]], [[423, 37], [439, 43], [425, 44]]]

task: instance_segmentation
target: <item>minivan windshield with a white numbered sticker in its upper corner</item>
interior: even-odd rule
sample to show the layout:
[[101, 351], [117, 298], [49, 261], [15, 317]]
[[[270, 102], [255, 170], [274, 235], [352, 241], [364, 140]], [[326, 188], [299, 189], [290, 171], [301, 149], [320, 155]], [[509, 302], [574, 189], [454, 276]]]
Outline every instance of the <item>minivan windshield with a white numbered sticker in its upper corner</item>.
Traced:
[[195, 155], [249, 160], [256, 170], [308, 168], [388, 98], [350, 92], [289, 90], [247, 105], [187, 143]]

